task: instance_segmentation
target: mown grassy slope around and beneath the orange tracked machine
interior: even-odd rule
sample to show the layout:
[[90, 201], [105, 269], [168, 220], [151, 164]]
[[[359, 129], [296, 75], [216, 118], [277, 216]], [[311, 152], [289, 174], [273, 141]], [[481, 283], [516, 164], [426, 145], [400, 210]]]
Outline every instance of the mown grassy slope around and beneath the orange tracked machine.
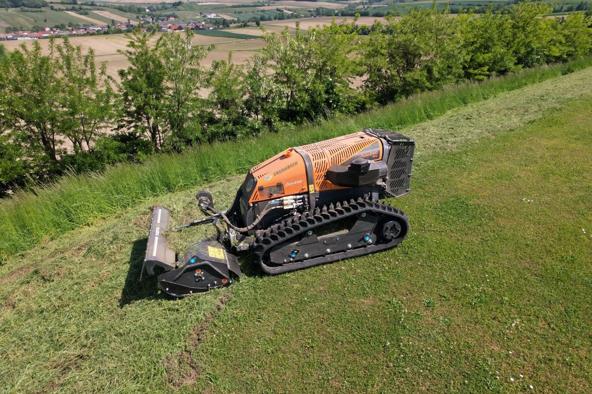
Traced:
[[[147, 207], [166, 204], [182, 222], [195, 214], [185, 192], [9, 260], [0, 388], [590, 391], [592, 238], [581, 229], [592, 233], [592, 97], [575, 93], [583, 76], [406, 129], [419, 141], [416, 175], [412, 193], [393, 202], [413, 228], [389, 252], [274, 277], [243, 262], [246, 276], [228, 289], [163, 298], [152, 278], [138, 282]], [[238, 183], [211, 187], [221, 206]]]

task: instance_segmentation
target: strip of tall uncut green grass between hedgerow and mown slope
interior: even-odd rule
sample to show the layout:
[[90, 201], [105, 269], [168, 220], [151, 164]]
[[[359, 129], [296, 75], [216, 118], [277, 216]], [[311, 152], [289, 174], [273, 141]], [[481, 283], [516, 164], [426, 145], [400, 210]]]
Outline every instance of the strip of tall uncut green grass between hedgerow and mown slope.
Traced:
[[54, 184], [19, 191], [0, 202], [0, 258], [86, 226], [146, 198], [186, 190], [236, 174], [287, 148], [310, 144], [365, 127], [400, 129], [446, 111], [479, 102], [592, 66], [592, 58], [524, 70], [481, 83], [448, 86], [353, 117], [301, 126], [279, 133], [199, 146], [183, 154], [155, 155], [98, 174], [73, 175]]

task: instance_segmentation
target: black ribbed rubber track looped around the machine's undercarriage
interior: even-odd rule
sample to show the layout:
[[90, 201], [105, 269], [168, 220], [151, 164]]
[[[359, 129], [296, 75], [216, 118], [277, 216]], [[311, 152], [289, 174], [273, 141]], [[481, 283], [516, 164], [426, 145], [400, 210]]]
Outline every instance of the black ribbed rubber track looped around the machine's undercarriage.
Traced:
[[[317, 258], [287, 263], [284, 265], [266, 265], [263, 263], [263, 256], [265, 256], [265, 254], [271, 248], [274, 248], [274, 246], [284, 243], [308, 230], [316, 229], [317, 227], [324, 226], [326, 224], [330, 224], [336, 222], [337, 220], [345, 219], [346, 217], [357, 215], [362, 212], [372, 212], [385, 216], [391, 216], [399, 219], [402, 222], [401, 224], [406, 224], [406, 226], [404, 226], [404, 229], [401, 229], [401, 234], [390, 242], [375, 243], [374, 245], [359, 247], [346, 252], [336, 252], [332, 255], [318, 256]], [[263, 268], [263, 271], [272, 275], [295, 271], [297, 269], [308, 268], [314, 265], [330, 263], [355, 256], [375, 253], [379, 250], [393, 248], [403, 241], [407, 235], [408, 230], [409, 218], [403, 211], [398, 210], [397, 208], [388, 204], [379, 203], [378, 201], [370, 200], [368, 198], [358, 198], [358, 201], [349, 200], [349, 202], [336, 203], [334, 205], [330, 204], [329, 206], [317, 208], [314, 210], [314, 213], [308, 211], [299, 216], [292, 216], [288, 219], [285, 219], [281, 223], [274, 224], [274, 226], [269, 227], [269, 229], [265, 230], [265, 232], [260, 233], [253, 243], [253, 262], [259, 263], [261, 268]]]

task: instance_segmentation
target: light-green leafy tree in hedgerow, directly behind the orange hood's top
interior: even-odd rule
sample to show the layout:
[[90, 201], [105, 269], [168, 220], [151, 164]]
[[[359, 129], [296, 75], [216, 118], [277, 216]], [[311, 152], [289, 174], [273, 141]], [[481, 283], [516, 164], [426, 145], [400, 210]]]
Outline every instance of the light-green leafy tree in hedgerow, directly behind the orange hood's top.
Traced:
[[[354, 22], [355, 23], [355, 22]], [[346, 24], [310, 28], [303, 32], [297, 22], [295, 34], [267, 32], [262, 49], [274, 83], [281, 87], [283, 108], [279, 119], [303, 122], [329, 112], [352, 112], [355, 89], [350, 82], [356, 73], [355, 30]]]

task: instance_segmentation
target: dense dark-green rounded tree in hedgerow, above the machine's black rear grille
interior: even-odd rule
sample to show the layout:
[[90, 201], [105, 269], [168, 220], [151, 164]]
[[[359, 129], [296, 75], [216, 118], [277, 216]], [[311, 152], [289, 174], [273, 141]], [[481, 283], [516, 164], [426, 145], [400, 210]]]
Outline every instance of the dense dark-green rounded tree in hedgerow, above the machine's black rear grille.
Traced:
[[362, 43], [368, 95], [385, 104], [461, 78], [466, 54], [455, 19], [436, 4], [412, 8], [398, 21], [387, 16], [385, 31]]

